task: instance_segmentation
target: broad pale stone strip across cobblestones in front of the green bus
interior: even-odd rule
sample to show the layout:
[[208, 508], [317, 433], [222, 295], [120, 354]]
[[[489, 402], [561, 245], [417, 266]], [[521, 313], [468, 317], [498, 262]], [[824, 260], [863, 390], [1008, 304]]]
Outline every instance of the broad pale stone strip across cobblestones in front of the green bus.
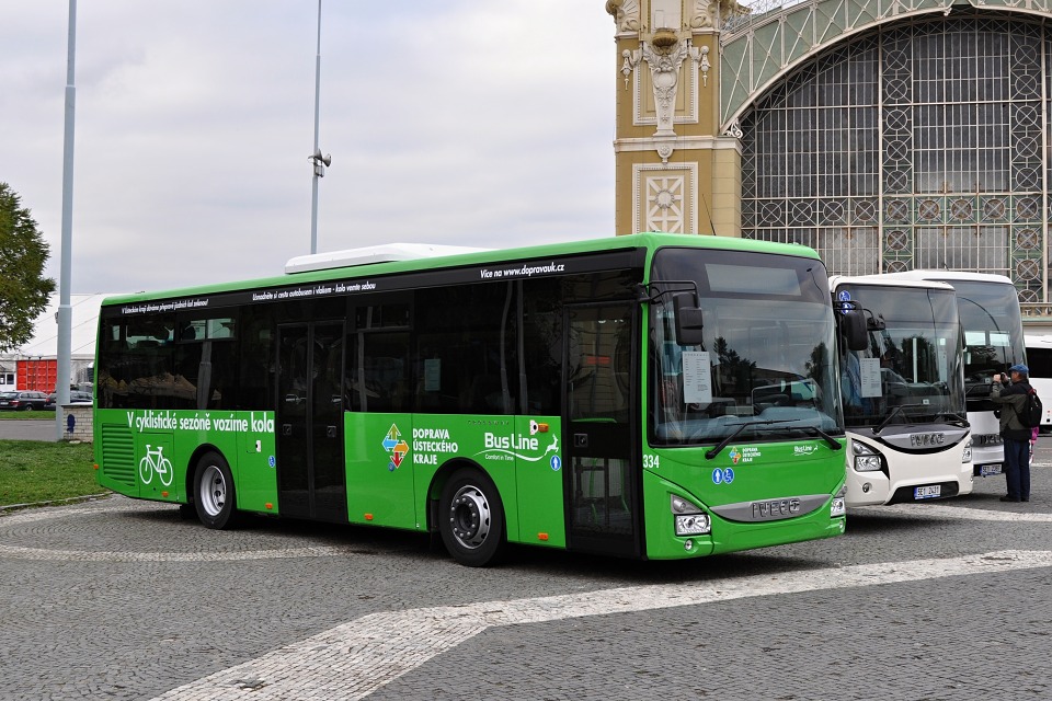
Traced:
[[[964, 509], [962, 509], [964, 510]], [[756, 596], [864, 587], [1052, 566], [1049, 551], [885, 562], [562, 596], [373, 613], [172, 689], [155, 701], [364, 699], [491, 627], [698, 606]]]

